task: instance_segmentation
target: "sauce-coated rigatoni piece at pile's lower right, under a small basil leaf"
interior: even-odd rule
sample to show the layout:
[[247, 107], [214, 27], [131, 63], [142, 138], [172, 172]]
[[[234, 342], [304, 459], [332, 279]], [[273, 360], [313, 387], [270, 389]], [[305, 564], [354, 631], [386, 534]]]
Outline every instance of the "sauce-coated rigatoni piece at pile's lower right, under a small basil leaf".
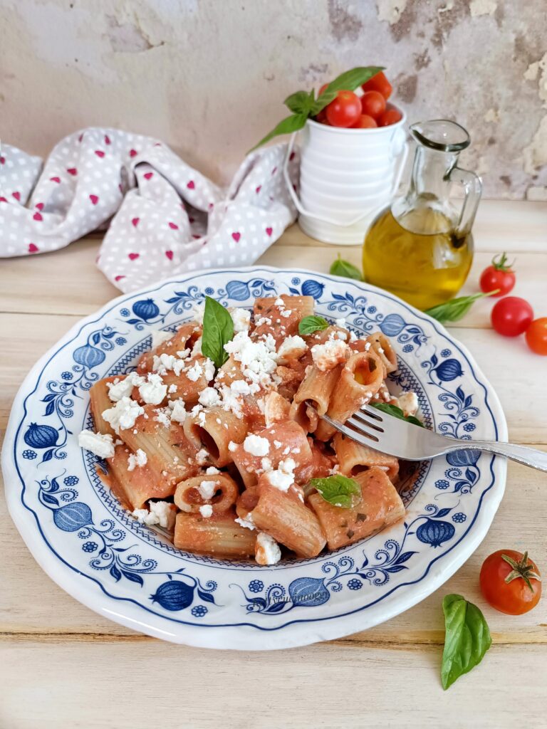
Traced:
[[405, 515], [404, 504], [386, 472], [372, 467], [354, 480], [361, 487], [361, 502], [352, 509], [333, 506], [319, 494], [308, 497], [331, 550], [370, 537]]

